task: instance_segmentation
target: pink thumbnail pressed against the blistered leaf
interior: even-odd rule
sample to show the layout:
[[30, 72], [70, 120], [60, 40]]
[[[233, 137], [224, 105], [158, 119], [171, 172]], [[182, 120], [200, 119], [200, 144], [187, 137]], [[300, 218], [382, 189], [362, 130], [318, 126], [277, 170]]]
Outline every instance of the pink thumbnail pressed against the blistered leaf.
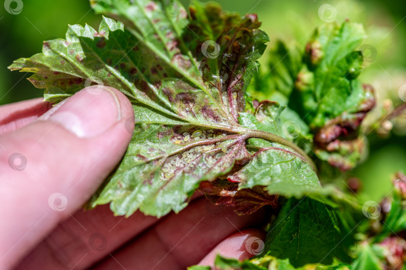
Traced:
[[111, 87], [93, 85], [72, 95], [48, 118], [78, 137], [103, 133], [121, 118], [119, 98]]

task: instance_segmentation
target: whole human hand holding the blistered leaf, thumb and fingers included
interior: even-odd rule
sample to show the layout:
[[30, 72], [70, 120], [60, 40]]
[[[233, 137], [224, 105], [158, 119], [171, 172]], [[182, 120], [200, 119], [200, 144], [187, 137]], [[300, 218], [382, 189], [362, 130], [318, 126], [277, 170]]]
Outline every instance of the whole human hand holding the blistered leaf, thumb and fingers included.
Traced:
[[80, 210], [123, 156], [133, 109], [104, 86], [50, 107], [41, 99], [0, 106], [1, 269], [170, 270], [212, 265], [218, 252], [254, 255], [247, 239], [264, 235], [246, 228], [263, 211], [238, 216], [198, 195], [161, 219], [114, 216], [107, 205]]

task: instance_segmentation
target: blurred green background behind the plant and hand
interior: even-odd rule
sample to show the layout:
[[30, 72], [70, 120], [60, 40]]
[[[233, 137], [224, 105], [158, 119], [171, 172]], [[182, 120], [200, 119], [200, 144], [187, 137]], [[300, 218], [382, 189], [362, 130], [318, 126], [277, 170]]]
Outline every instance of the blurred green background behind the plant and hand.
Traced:
[[[23, 5], [19, 6], [19, 1]], [[0, 7], [0, 104], [42, 96], [42, 90], [31, 85], [26, 72], [11, 72], [7, 66], [19, 57], [28, 57], [41, 51], [42, 41], [64, 37], [68, 24], [85, 24], [98, 28], [101, 15], [95, 15], [86, 0], [6, 0], [11, 8], [20, 8], [11, 14]], [[188, 0], [181, 0], [187, 5]], [[364, 44], [376, 49], [365, 51], [373, 58], [361, 80], [371, 83], [382, 100], [399, 103], [398, 89], [406, 84], [406, 4], [404, 0], [218, 0], [224, 9], [242, 14], [257, 13], [262, 28], [269, 34], [272, 45], [283, 39], [292, 46], [303, 48], [317, 25], [324, 23], [318, 10], [330, 4], [337, 11], [336, 21], [345, 19], [364, 24], [368, 38]], [[329, 10], [325, 15], [332, 15]], [[267, 52], [266, 52], [267, 53]], [[266, 54], [265, 53], [265, 54]], [[267, 68], [263, 57], [261, 68]], [[363, 200], [379, 200], [390, 188], [390, 179], [396, 170], [406, 171], [406, 143], [402, 134], [391, 134], [385, 139], [368, 137], [370, 156], [349, 175], [359, 177], [363, 184], [359, 196]]]

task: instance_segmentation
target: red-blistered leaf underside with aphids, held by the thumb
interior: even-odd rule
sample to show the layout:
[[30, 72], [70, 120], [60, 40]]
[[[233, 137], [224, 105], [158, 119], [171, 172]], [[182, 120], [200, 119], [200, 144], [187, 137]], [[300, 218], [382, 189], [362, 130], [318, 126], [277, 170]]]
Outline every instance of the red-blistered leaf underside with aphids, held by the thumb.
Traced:
[[319, 187], [302, 155], [252, 135], [284, 137], [277, 103], [255, 114], [245, 109], [246, 88], [269, 40], [256, 15], [215, 3], [196, 2], [188, 13], [176, 1], [92, 4], [119, 21], [103, 17], [98, 31], [70, 25], [66, 39], [45, 41], [42, 53], [9, 67], [34, 72], [29, 79], [52, 102], [95, 83], [131, 100], [133, 137], [91, 206], [111, 202], [115, 214], [140, 209], [162, 216], [184, 208], [199, 182], [221, 175], [239, 188], [260, 184], [284, 195]]

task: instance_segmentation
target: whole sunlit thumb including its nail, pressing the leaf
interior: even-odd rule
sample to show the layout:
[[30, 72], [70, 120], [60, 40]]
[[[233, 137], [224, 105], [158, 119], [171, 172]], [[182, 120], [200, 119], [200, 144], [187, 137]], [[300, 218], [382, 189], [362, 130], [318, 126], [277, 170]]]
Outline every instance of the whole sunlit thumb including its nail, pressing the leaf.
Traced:
[[0, 266], [89, 199], [122, 158], [133, 123], [130, 101], [96, 85], [0, 137]]

